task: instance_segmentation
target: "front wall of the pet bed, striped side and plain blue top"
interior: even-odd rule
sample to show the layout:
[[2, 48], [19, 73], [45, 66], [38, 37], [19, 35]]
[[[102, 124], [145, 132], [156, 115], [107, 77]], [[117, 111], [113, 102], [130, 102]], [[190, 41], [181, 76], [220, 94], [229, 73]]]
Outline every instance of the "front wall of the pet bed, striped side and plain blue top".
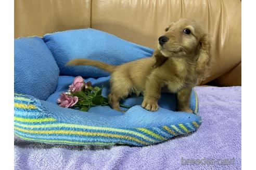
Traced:
[[[15, 134], [25, 140], [68, 145], [134, 145], [161, 143], [198, 129], [200, 116], [135, 105], [122, 112], [97, 106], [88, 112], [62, 108], [29, 95], [15, 93]], [[196, 94], [191, 98], [198, 111]]]

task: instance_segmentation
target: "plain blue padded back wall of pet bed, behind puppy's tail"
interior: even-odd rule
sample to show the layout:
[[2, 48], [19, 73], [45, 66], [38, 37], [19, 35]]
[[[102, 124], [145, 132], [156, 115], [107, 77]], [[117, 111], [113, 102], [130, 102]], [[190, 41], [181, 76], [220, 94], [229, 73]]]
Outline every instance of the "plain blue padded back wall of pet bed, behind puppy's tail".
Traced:
[[46, 34], [45, 44], [52, 51], [61, 75], [103, 77], [108, 73], [91, 66], [67, 67], [75, 58], [98, 60], [120, 65], [133, 60], [150, 57], [153, 49], [143, 47], [112, 34], [94, 29], [81, 29]]

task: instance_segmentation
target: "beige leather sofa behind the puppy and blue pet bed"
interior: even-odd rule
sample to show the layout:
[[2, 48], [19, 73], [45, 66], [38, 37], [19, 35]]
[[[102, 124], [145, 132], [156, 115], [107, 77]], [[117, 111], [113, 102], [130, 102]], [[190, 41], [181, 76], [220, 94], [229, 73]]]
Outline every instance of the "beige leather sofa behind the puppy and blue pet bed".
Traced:
[[201, 84], [241, 86], [239, 0], [15, 0], [15, 38], [91, 27], [155, 48], [179, 18], [197, 19], [211, 33], [212, 74]]

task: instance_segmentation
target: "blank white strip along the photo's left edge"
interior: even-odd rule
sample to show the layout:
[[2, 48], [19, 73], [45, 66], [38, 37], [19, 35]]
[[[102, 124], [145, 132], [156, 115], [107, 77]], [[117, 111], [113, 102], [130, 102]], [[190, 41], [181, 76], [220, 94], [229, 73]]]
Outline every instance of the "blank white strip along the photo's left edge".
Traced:
[[1, 169], [14, 169], [14, 1], [1, 1]]

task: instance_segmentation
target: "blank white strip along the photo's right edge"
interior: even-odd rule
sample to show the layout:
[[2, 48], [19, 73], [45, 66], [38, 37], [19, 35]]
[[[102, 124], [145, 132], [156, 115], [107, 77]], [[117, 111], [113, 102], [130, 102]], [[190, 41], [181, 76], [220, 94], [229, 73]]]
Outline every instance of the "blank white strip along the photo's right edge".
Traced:
[[[242, 1], [242, 168], [255, 168], [255, 1]], [[232, 36], [232, 35], [230, 35]]]

